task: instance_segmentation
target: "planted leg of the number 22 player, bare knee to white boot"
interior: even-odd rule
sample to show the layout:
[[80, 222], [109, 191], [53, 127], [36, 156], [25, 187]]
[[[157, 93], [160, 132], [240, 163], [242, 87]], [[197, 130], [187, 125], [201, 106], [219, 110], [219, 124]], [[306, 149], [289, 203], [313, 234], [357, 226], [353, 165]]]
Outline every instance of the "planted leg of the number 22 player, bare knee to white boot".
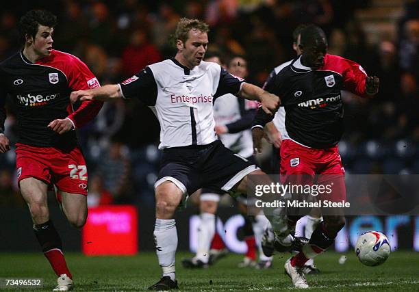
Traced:
[[64, 254], [62, 241], [53, 223], [49, 219], [47, 202], [48, 185], [36, 178], [24, 178], [19, 182], [21, 194], [31, 213], [34, 222], [34, 233], [41, 245], [42, 252], [47, 257], [51, 267], [58, 276], [58, 286], [54, 291], [68, 291], [73, 289], [73, 280]]

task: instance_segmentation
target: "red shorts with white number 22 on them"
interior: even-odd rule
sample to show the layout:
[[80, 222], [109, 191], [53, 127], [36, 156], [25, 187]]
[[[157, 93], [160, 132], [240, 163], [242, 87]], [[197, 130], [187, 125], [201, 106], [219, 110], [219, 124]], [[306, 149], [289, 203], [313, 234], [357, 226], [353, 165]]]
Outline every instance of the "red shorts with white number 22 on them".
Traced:
[[32, 177], [66, 193], [88, 193], [86, 161], [78, 147], [64, 151], [16, 143], [16, 170], [18, 182]]

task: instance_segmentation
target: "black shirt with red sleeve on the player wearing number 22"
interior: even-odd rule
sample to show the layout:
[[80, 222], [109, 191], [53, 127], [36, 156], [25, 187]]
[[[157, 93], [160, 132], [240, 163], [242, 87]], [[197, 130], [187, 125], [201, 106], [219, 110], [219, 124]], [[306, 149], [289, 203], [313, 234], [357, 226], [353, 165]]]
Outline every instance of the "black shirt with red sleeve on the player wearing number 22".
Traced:
[[74, 90], [99, 87], [86, 64], [77, 57], [53, 50], [35, 64], [18, 52], [0, 64], [0, 133], [4, 131], [5, 98], [16, 107], [18, 142], [38, 147], [71, 147], [75, 131], [62, 135], [47, 126], [55, 119], [69, 118], [76, 128], [97, 115], [103, 103], [83, 102], [77, 110], [69, 101]]

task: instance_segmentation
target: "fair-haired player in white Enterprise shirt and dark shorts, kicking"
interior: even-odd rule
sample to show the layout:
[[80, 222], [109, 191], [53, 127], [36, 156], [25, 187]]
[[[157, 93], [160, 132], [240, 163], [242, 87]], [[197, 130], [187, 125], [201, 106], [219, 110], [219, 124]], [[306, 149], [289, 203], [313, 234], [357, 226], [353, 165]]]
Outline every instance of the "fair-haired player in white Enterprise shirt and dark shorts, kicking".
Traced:
[[238, 94], [257, 100], [275, 114], [279, 97], [229, 75], [220, 65], [203, 61], [208, 25], [181, 18], [175, 31], [174, 58], [151, 64], [123, 83], [71, 93], [71, 101], [139, 98], [160, 122], [161, 169], [155, 183], [157, 258], [163, 276], [151, 290], [176, 289], [177, 207], [201, 187], [247, 192], [248, 174], [264, 174], [257, 166], [225, 148], [214, 131], [214, 98]]

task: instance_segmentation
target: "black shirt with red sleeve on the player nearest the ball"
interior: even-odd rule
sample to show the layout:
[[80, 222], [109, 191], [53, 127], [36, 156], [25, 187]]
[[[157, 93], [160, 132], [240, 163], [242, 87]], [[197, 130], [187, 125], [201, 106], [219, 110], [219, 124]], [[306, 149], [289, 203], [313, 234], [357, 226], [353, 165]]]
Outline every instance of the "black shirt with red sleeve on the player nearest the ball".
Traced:
[[[264, 89], [281, 98], [288, 136], [312, 148], [338, 144], [344, 131], [340, 91], [367, 97], [364, 69], [351, 60], [329, 54], [324, 66], [317, 70], [303, 66], [301, 57], [279, 69], [271, 72]], [[253, 125], [263, 127], [272, 118], [259, 109]]]

